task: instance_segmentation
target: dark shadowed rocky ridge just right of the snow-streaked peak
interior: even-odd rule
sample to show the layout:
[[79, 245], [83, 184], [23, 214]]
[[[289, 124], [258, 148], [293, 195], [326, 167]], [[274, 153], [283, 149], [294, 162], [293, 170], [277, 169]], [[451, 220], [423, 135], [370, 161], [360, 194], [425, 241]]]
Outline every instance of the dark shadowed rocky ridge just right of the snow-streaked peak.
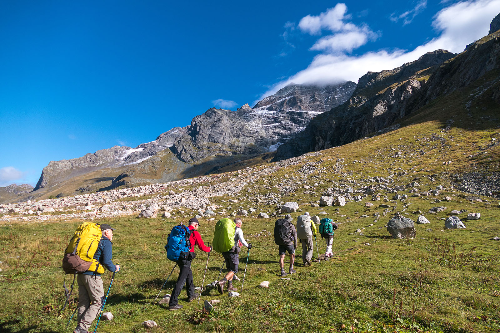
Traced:
[[392, 70], [366, 73], [346, 103], [311, 120], [297, 138], [278, 148], [276, 159], [340, 146], [389, 126], [411, 112], [429, 76], [452, 57], [436, 50]]

